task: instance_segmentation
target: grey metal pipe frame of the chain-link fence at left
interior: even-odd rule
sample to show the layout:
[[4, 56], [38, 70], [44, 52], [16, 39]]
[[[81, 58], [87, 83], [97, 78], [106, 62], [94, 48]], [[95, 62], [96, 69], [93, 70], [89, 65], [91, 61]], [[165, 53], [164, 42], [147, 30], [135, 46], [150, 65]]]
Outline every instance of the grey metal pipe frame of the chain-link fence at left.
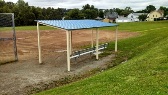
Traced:
[[13, 40], [13, 50], [14, 50], [14, 55], [15, 55], [15, 61], [18, 61], [14, 13], [0, 13], [0, 14], [12, 16], [13, 38], [0, 38], [0, 40], [2, 40], [2, 41]]

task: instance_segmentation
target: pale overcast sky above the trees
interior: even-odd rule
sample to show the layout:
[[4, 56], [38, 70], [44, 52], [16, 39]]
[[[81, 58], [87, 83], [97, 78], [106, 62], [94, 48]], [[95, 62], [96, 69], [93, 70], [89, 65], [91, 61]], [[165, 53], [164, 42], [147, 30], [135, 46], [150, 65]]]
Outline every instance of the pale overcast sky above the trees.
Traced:
[[[5, 0], [16, 3], [18, 0]], [[24, 0], [30, 6], [54, 7], [54, 8], [79, 8], [83, 5], [94, 5], [99, 9], [125, 8], [131, 7], [134, 11], [145, 9], [148, 5], [168, 7], [168, 0]]]

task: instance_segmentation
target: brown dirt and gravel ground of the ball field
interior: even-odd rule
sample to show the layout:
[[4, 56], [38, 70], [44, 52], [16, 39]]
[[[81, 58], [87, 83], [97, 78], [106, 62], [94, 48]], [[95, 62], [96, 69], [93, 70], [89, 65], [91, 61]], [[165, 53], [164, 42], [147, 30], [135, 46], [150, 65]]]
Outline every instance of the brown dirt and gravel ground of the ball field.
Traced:
[[[73, 50], [91, 43], [91, 30], [76, 30], [73, 34]], [[137, 36], [134, 32], [119, 32], [118, 38]], [[9, 37], [9, 32], [0, 32], [0, 37]], [[100, 42], [115, 39], [114, 31], [99, 32]], [[94, 37], [95, 38], [95, 37]], [[12, 41], [0, 41], [0, 63], [13, 60]], [[37, 32], [17, 31], [18, 62], [0, 65], [0, 94], [22, 95], [28, 93], [31, 86], [50, 83], [70, 75], [79, 75], [89, 70], [104, 66], [114, 55], [101, 58], [86, 55], [71, 60], [71, 71], [66, 66], [66, 33], [62, 30], [41, 31], [43, 65], [38, 63]], [[87, 60], [86, 60], [87, 59]], [[32, 90], [32, 89], [31, 89]]]

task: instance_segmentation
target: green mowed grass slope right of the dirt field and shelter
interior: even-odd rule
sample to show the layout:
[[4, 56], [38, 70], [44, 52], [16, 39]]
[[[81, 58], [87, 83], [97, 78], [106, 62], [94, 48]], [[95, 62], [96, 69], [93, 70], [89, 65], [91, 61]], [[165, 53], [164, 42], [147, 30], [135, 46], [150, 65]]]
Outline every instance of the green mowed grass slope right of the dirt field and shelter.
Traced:
[[[111, 64], [119, 65], [36, 95], [168, 95], [168, 21], [119, 25], [119, 30], [142, 33], [118, 42]], [[112, 50], [114, 42], [107, 49]]]

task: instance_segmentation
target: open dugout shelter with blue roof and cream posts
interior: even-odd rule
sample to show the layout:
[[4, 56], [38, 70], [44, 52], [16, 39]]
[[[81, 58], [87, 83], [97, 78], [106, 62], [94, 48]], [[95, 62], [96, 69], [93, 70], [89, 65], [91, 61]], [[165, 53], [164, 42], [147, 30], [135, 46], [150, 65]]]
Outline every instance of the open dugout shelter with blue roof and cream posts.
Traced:
[[[99, 59], [99, 28], [116, 27], [115, 52], [117, 51], [118, 24], [106, 23], [106, 22], [101, 22], [96, 20], [35, 20], [35, 21], [37, 22], [39, 63], [42, 63], [39, 24], [58, 28], [66, 32], [68, 71], [70, 71], [70, 60], [74, 57], [72, 55], [72, 31], [73, 30], [94, 29], [94, 28], [96, 29], [95, 54], [96, 54], [96, 59]], [[93, 37], [93, 31], [92, 31], [92, 37]], [[93, 39], [92, 39], [92, 46], [93, 46]], [[86, 51], [86, 52], [89, 52], [89, 51]], [[83, 54], [86, 54], [86, 52]]]

